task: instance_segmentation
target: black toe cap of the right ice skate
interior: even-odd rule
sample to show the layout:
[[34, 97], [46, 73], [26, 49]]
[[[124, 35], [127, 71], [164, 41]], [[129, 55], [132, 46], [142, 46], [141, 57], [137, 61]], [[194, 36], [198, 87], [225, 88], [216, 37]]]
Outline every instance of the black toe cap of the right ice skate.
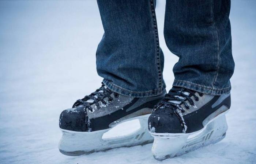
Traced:
[[155, 133], [182, 133], [182, 124], [172, 109], [158, 109], [148, 118], [148, 130]]

